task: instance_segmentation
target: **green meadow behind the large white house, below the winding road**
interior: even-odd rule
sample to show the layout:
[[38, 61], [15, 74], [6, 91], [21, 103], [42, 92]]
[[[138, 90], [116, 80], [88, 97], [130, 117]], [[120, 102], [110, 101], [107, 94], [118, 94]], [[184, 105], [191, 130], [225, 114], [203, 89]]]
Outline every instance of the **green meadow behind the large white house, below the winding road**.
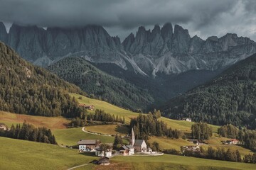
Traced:
[[93, 135], [87, 132], [82, 132], [82, 128], [69, 128], [62, 130], [53, 130], [58, 145], [78, 145], [78, 140], [100, 140], [101, 142], [112, 143], [114, 137]]

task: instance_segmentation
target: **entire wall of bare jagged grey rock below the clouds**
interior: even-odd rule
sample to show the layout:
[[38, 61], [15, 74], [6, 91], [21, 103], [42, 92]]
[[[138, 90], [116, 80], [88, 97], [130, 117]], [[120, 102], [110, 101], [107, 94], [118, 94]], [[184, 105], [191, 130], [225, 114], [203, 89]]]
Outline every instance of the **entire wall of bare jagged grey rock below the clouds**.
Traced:
[[38, 28], [13, 25], [9, 34], [0, 23], [0, 40], [26, 60], [41, 66], [75, 55], [90, 62], [114, 63], [122, 69], [131, 65], [134, 72], [156, 76], [191, 69], [220, 69], [256, 52], [249, 38], [227, 34], [222, 38], [191, 38], [188, 30], [166, 23], [153, 30], [139, 27], [124, 42], [111, 37], [101, 26], [85, 28]]

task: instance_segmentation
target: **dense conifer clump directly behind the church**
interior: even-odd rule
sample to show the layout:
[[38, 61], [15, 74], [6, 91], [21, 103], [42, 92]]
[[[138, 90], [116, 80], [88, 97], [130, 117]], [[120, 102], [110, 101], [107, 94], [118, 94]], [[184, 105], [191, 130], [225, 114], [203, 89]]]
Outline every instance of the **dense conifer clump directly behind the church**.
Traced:
[[186, 138], [180, 130], [172, 130], [168, 128], [166, 123], [158, 120], [159, 115], [156, 114], [139, 114], [137, 118], [133, 118], [130, 122], [130, 129], [134, 129], [136, 139], [149, 140], [149, 136], [166, 136], [178, 139], [179, 137]]

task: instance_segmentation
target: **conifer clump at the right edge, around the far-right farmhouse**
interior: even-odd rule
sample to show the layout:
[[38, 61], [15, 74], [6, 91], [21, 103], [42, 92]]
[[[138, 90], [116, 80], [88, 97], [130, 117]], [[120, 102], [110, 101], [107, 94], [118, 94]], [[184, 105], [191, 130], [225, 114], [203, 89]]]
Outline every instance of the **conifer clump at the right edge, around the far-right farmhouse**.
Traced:
[[234, 125], [228, 124], [218, 128], [218, 134], [238, 139], [244, 147], [256, 151], [256, 130], [238, 129]]

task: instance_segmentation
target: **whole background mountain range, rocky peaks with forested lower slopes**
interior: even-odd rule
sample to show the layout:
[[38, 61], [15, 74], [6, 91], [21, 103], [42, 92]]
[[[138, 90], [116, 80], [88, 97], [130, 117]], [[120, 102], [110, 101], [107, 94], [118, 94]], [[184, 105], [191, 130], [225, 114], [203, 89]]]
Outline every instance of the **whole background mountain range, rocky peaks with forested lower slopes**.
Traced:
[[0, 23], [0, 40], [87, 94], [132, 110], [159, 107], [256, 52], [250, 38], [231, 33], [191, 38], [188, 30], [171, 23], [153, 30], [141, 26], [123, 42], [102, 26], [13, 24], [7, 33]]

